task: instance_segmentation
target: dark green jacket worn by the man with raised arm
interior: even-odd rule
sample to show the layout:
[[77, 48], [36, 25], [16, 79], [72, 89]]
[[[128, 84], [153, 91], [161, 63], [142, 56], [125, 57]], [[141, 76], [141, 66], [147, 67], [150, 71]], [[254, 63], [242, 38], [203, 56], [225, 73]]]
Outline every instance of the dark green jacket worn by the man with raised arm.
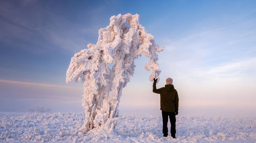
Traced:
[[153, 92], [160, 94], [161, 110], [166, 112], [177, 112], [179, 109], [179, 97], [173, 84], [165, 84], [164, 88], [157, 89], [156, 81], [153, 83]]

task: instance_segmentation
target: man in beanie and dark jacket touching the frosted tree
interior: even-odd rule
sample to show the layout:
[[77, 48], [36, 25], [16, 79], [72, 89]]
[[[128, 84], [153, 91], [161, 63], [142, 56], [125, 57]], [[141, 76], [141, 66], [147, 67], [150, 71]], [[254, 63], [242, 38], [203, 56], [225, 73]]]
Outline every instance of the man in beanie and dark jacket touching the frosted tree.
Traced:
[[167, 137], [168, 135], [168, 117], [170, 119], [170, 134], [173, 138], [176, 133], [176, 118], [178, 115], [178, 107], [179, 107], [179, 97], [177, 91], [174, 89], [173, 79], [167, 78], [166, 84], [164, 88], [157, 89], [156, 88], [157, 79], [154, 78], [153, 83], [153, 92], [160, 94], [160, 105], [162, 110], [162, 118], [163, 118], [163, 136]]

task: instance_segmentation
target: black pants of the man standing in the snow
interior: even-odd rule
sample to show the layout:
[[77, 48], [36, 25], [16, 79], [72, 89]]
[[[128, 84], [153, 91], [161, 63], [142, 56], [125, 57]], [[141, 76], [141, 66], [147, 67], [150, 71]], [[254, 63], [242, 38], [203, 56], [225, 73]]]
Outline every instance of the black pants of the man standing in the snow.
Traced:
[[175, 118], [175, 112], [165, 112], [162, 111], [162, 118], [163, 118], [163, 135], [167, 136], [168, 135], [168, 116], [170, 119], [170, 134], [172, 136], [175, 136], [176, 133], [176, 118]]

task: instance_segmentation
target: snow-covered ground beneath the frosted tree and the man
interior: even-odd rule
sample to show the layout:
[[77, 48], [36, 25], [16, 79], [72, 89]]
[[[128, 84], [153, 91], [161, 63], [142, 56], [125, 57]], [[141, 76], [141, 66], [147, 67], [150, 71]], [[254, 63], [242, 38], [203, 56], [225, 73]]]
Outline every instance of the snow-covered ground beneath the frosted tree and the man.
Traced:
[[113, 133], [77, 133], [83, 119], [84, 113], [0, 112], [0, 142], [256, 142], [255, 115], [178, 115], [176, 139], [162, 136], [160, 113], [120, 115]]

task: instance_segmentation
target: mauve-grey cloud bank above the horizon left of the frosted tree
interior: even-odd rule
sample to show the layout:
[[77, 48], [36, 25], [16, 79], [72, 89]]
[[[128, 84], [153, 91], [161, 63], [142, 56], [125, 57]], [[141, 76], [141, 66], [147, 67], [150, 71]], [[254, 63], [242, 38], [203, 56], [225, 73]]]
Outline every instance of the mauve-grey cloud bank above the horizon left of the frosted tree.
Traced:
[[0, 110], [25, 111], [38, 106], [53, 111], [82, 111], [82, 88], [0, 80]]

